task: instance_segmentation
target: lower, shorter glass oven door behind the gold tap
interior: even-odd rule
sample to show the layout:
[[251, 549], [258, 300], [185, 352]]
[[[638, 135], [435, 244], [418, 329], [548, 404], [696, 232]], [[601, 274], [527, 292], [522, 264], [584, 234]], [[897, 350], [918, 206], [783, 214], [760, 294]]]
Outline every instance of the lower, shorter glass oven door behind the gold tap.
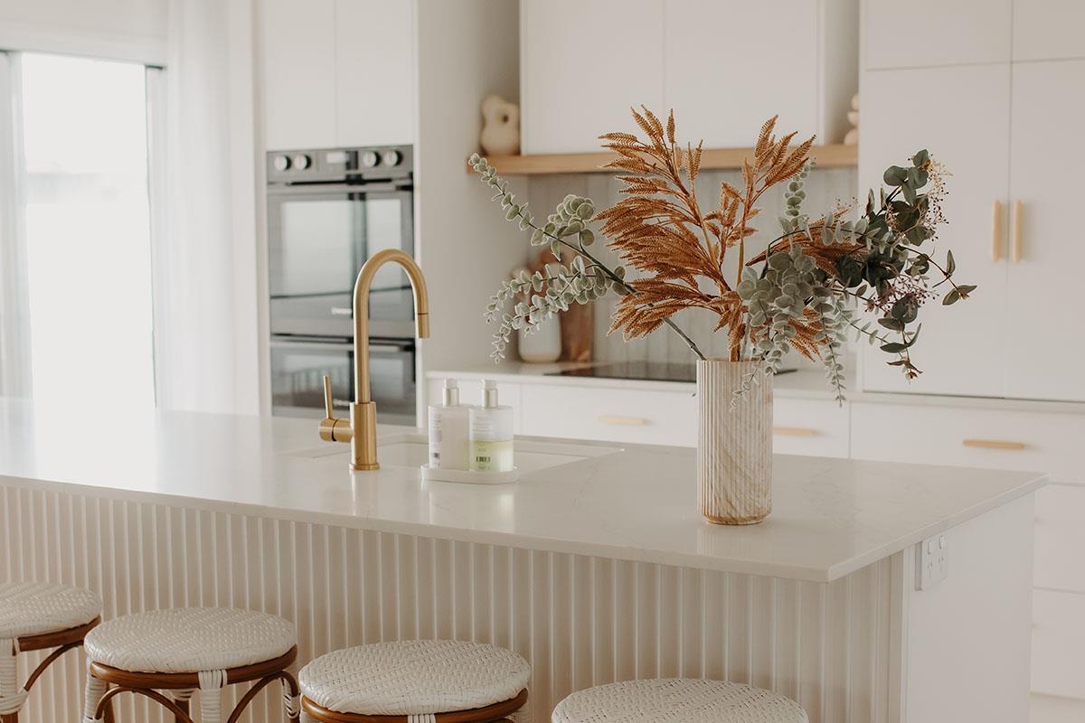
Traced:
[[[349, 339], [271, 339], [271, 413], [322, 418], [324, 375], [332, 380], [336, 416], [354, 401], [354, 345]], [[376, 421], [416, 426], [414, 341], [370, 339], [369, 375]]]

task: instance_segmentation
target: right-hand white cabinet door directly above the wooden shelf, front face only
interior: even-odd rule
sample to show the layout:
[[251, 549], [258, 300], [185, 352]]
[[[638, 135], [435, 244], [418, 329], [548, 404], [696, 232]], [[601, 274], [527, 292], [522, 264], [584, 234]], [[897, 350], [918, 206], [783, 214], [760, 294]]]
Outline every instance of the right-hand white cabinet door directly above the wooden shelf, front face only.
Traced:
[[[779, 131], [797, 131], [802, 138], [822, 132], [818, 5], [813, 0], [666, 0], [664, 112], [674, 108], [682, 142], [751, 146], [774, 115], [780, 116]], [[853, 92], [854, 81], [853, 73]], [[840, 109], [842, 118], [846, 109]]]

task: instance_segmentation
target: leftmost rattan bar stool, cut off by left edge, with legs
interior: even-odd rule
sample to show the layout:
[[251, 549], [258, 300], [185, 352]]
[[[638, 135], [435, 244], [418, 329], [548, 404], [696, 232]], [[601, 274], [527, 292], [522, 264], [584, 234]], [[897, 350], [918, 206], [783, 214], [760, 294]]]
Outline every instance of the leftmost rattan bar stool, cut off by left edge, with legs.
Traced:
[[[17, 723], [34, 683], [54, 660], [82, 645], [101, 614], [102, 601], [89, 590], [51, 582], [0, 583], [0, 722]], [[15, 656], [47, 648], [56, 649], [20, 687]]]

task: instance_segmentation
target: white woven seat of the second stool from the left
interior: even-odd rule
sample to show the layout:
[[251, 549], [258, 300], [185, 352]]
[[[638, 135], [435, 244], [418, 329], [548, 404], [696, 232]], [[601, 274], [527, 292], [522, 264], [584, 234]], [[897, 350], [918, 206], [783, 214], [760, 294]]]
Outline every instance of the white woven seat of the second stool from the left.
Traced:
[[294, 625], [265, 612], [193, 607], [137, 612], [87, 635], [87, 656], [128, 671], [190, 673], [239, 668], [286, 654]]

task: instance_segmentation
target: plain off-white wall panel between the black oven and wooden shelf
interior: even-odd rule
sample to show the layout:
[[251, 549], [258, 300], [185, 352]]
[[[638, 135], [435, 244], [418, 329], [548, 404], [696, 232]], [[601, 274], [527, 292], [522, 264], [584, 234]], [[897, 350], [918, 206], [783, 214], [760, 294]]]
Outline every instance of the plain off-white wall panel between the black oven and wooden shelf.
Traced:
[[[519, 7], [516, 0], [418, 0], [417, 17], [417, 240], [432, 313], [422, 361], [424, 369], [480, 365], [493, 333], [482, 318], [486, 299], [523, 263], [527, 238], [465, 168], [478, 149], [482, 99], [520, 96]], [[523, 186], [514, 191], [526, 201]], [[424, 385], [419, 389], [424, 396]]]

